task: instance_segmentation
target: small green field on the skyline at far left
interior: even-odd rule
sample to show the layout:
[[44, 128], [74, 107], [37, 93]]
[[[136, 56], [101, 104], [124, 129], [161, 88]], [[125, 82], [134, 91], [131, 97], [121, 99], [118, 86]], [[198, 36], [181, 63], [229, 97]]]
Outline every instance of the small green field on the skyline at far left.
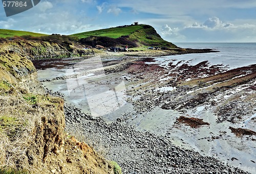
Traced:
[[14, 36], [24, 36], [24, 35], [31, 35], [31, 36], [34, 36], [34, 37], [40, 37], [40, 36], [46, 36], [47, 34], [33, 33], [33, 32], [28, 32], [28, 31], [16, 31], [16, 30], [0, 29], [0, 38], [14, 37]]

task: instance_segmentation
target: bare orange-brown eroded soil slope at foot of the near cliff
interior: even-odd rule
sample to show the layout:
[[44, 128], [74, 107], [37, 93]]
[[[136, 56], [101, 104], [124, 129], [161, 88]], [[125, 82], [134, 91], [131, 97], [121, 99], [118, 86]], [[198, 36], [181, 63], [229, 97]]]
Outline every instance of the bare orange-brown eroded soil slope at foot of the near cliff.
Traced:
[[47, 158], [46, 173], [113, 173], [114, 165], [86, 143], [66, 135], [63, 147]]

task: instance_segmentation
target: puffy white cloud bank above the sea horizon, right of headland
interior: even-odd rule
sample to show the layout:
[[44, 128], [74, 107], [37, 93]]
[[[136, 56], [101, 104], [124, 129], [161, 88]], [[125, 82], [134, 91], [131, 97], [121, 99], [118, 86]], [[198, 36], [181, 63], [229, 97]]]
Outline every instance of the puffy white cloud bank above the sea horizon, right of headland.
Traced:
[[256, 36], [256, 19], [222, 21], [210, 17], [204, 23], [195, 22], [179, 32], [192, 42], [254, 42]]

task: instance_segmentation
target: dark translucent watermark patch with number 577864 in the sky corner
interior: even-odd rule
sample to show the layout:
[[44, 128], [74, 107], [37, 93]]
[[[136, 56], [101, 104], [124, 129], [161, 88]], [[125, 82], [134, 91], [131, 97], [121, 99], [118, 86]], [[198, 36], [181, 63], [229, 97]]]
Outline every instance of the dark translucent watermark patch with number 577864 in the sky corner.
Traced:
[[40, 0], [19, 0], [19, 1], [6, 1], [2, 0], [6, 16], [12, 16], [36, 6]]

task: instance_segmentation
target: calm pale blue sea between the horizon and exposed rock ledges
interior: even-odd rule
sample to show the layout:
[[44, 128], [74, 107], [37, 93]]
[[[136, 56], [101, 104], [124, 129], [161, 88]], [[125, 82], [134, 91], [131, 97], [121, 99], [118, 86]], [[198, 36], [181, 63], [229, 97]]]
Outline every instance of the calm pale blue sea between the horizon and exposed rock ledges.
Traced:
[[194, 59], [194, 62], [208, 60], [211, 64], [223, 64], [229, 68], [238, 68], [256, 63], [256, 43], [174, 43], [182, 48], [211, 48], [217, 53], [185, 54], [167, 56], [180, 60]]

